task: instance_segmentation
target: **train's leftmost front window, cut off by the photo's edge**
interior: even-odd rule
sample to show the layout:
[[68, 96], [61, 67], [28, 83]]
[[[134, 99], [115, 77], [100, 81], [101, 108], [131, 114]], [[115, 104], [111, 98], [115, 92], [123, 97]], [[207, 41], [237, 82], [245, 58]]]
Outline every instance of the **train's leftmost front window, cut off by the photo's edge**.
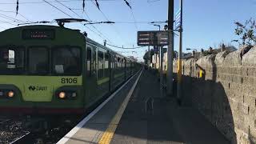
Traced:
[[0, 48], [0, 74], [22, 74], [25, 69], [25, 50], [22, 48]]

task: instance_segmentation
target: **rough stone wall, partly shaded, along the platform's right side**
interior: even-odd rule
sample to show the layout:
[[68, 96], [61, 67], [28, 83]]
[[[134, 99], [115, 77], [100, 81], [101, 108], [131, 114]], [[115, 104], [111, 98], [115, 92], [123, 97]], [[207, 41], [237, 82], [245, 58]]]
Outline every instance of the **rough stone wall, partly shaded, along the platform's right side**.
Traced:
[[256, 46], [242, 58], [241, 50], [182, 60], [182, 102], [197, 108], [231, 143], [255, 143]]

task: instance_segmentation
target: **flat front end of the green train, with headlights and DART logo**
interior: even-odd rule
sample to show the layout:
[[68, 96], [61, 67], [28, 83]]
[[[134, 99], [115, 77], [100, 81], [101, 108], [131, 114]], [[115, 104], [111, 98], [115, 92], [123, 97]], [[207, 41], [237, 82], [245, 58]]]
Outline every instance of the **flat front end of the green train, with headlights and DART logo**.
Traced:
[[22, 26], [0, 32], [0, 39], [1, 113], [82, 112], [82, 34], [58, 26]]

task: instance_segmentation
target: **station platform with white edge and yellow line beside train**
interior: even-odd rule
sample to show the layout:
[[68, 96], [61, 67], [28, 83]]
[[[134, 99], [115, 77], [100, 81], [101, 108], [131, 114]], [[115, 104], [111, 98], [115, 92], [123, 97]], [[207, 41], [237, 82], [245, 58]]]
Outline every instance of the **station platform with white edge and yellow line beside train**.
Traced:
[[143, 70], [58, 142], [62, 143], [229, 142], [197, 110], [162, 98], [158, 78]]

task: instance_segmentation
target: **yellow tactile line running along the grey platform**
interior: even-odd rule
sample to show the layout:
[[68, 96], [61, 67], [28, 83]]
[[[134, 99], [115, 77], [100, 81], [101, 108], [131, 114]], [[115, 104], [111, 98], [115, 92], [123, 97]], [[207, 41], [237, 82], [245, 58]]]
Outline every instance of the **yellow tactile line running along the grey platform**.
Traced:
[[118, 127], [118, 123], [120, 122], [120, 119], [122, 118], [122, 114], [126, 110], [126, 106], [128, 105], [131, 95], [134, 93], [134, 89], [137, 86], [138, 80], [141, 77], [141, 75], [142, 75], [142, 72], [141, 72], [141, 74], [139, 74], [136, 82], [134, 82], [134, 86], [130, 89], [129, 93], [126, 96], [126, 99], [122, 102], [122, 105], [119, 107], [117, 114], [114, 115], [114, 118], [111, 120], [108, 128], [102, 134], [102, 138], [100, 138], [98, 144], [110, 144], [111, 139], [114, 136], [114, 132]]

